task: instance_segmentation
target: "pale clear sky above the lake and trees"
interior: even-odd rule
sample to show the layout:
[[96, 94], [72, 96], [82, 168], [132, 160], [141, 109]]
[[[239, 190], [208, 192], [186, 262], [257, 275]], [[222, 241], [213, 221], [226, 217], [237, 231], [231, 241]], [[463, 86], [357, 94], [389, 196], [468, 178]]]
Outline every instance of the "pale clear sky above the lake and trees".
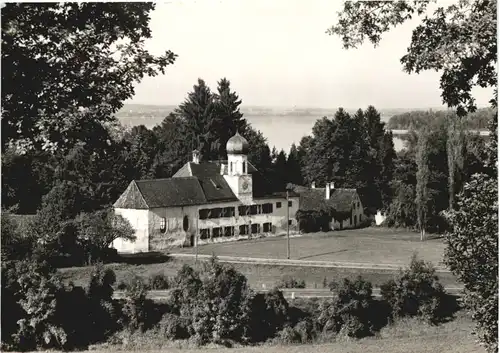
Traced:
[[[178, 105], [198, 78], [216, 90], [226, 77], [247, 106], [442, 106], [440, 74], [409, 75], [399, 61], [418, 18], [386, 33], [377, 48], [345, 50], [340, 38], [325, 33], [341, 8], [335, 0], [159, 2], [146, 46], [178, 57], [165, 75], [137, 84], [127, 103]], [[491, 99], [490, 90], [473, 94], [480, 106]]]

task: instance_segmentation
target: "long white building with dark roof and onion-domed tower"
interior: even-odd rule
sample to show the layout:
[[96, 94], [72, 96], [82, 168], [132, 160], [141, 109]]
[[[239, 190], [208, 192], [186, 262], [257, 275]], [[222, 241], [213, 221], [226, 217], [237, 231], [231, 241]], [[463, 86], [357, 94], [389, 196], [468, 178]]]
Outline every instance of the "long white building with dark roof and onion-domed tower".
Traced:
[[227, 161], [200, 161], [198, 151], [172, 178], [134, 180], [114, 209], [135, 229], [136, 241], [117, 239], [119, 252], [251, 239], [297, 232], [299, 195], [274, 191], [247, 158], [238, 132], [226, 144]]

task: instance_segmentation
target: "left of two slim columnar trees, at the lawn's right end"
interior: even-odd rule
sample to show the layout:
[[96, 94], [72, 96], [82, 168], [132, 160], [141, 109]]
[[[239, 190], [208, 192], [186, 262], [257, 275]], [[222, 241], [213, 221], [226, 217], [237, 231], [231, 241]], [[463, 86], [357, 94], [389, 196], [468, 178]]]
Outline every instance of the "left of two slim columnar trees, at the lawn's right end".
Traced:
[[418, 138], [417, 186], [415, 204], [417, 205], [418, 228], [420, 240], [424, 240], [429, 213], [429, 137], [427, 131], [422, 131]]

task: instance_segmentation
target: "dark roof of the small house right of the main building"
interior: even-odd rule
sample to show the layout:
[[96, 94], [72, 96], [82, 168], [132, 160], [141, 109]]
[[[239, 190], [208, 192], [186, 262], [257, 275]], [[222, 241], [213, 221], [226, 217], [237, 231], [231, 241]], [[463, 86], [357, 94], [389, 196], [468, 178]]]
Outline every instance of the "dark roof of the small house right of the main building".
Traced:
[[336, 213], [350, 213], [356, 200], [356, 189], [333, 189], [330, 199], [325, 199], [325, 188], [309, 189], [295, 188], [300, 194], [300, 209], [302, 211], [319, 211], [331, 208]]

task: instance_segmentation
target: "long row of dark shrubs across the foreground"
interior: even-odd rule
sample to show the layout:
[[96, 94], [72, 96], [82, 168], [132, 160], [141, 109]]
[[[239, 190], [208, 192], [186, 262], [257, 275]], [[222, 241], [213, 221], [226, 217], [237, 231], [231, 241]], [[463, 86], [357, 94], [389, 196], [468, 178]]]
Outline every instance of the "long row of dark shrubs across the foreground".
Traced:
[[[329, 300], [303, 308], [290, 305], [277, 288], [254, 293], [244, 275], [215, 259], [200, 270], [185, 265], [171, 279], [131, 277], [121, 300], [113, 299], [115, 281], [113, 271], [98, 265], [85, 289], [65, 287], [45, 264], [2, 263], [2, 348], [84, 348], [111, 337], [124, 343], [127, 334], [144, 331], [197, 344], [306, 343], [371, 335], [401, 316], [437, 323], [446, 315], [434, 269], [416, 258], [382, 286], [383, 300], [375, 300], [371, 283], [359, 277], [331, 282]], [[146, 298], [148, 288], [170, 288], [171, 297], [154, 303]]]

